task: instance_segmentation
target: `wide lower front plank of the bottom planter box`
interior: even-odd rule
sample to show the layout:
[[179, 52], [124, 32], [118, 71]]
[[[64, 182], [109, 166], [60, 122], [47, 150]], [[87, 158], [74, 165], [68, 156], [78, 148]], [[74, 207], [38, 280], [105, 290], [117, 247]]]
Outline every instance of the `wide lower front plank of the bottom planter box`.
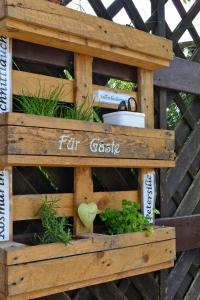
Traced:
[[[9, 266], [8, 293], [9, 295], [16, 295], [64, 284], [84, 282], [92, 278], [102, 277], [103, 279], [104, 276], [150, 267], [170, 261], [173, 258], [173, 242], [163, 241], [69, 258]], [[119, 264], [121, 259], [123, 259], [123, 265]]]

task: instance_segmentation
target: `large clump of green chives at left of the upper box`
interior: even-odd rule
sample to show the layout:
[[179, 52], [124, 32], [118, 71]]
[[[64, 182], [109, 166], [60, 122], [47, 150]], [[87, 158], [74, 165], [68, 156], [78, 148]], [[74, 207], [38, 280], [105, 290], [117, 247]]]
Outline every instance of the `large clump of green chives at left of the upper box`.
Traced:
[[56, 117], [59, 114], [60, 105], [58, 101], [62, 92], [62, 86], [57, 86], [50, 91], [40, 87], [36, 94], [22, 91], [22, 95], [16, 96], [15, 99], [23, 112], [27, 114]]

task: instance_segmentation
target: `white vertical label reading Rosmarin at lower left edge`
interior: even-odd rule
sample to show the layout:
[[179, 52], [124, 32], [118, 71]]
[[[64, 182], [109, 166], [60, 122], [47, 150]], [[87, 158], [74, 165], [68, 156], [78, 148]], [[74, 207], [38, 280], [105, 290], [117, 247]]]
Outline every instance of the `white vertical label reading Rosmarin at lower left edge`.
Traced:
[[0, 171], [0, 241], [9, 240], [9, 172]]

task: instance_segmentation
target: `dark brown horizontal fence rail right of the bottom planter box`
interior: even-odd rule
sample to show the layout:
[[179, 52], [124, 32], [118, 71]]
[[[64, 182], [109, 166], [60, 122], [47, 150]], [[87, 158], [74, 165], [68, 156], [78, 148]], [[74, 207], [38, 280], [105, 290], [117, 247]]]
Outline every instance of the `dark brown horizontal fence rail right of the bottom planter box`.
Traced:
[[156, 225], [176, 228], [177, 251], [200, 248], [200, 215], [156, 219]]

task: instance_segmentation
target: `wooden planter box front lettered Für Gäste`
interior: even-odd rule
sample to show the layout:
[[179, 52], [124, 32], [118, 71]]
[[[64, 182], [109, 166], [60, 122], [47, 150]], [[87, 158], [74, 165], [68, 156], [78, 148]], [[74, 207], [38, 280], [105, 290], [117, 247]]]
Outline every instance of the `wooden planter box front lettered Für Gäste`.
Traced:
[[174, 166], [174, 133], [18, 113], [0, 115], [3, 165]]

